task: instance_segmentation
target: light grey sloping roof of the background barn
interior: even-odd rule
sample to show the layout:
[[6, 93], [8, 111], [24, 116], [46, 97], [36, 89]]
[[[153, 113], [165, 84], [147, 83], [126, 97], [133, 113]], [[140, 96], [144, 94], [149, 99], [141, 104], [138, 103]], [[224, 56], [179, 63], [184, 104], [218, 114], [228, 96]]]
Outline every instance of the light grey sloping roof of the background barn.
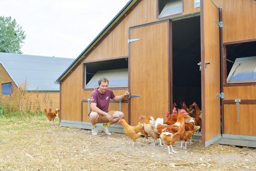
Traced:
[[54, 84], [54, 81], [74, 60], [73, 58], [0, 53], [0, 63], [14, 83], [18, 86], [27, 78], [28, 90], [35, 90], [38, 87], [39, 90], [59, 91], [60, 85]]

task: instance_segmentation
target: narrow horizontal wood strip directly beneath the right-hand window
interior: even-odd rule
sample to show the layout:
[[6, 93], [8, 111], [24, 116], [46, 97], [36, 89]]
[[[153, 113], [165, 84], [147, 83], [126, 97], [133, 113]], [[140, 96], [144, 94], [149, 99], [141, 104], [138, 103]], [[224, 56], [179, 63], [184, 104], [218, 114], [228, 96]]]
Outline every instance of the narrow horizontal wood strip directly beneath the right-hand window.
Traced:
[[224, 99], [256, 99], [256, 86], [223, 87]]

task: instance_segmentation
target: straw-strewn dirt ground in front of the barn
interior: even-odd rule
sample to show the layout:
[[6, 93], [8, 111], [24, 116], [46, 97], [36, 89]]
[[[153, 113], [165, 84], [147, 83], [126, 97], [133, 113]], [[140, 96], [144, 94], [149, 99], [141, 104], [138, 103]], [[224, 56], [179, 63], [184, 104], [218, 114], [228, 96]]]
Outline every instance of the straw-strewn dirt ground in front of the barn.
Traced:
[[[99, 131], [0, 117], [0, 170], [256, 170], [255, 148], [193, 141], [180, 153], [168, 155], [167, 147], [152, 147], [137, 139], [134, 147], [121, 133]], [[152, 138], [150, 141], [152, 141]], [[158, 144], [158, 142], [157, 142]]]

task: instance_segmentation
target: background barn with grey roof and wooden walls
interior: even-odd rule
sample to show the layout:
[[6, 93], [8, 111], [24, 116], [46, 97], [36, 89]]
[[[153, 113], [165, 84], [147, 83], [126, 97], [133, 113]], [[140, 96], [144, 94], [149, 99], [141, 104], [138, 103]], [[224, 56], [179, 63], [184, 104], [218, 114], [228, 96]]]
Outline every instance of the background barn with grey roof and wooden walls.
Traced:
[[73, 61], [71, 58], [0, 53], [0, 88], [3, 102], [14, 89], [23, 87], [26, 80], [29, 98], [24, 109], [35, 111], [38, 108], [35, 100], [39, 100], [40, 110], [43, 111], [44, 99], [52, 108], [58, 108], [60, 89], [54, 81]]

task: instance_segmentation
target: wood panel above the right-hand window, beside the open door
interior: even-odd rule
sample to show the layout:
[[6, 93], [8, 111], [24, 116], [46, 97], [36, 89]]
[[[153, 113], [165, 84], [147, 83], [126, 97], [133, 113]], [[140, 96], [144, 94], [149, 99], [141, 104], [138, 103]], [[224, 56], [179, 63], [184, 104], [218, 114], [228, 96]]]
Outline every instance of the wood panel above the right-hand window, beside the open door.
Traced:
[[[255, 38], [253, 36], [252, 0], [223, 0], [223, 42], [239, 41]], [[255, 21], [255, 19], [254, 19]]]

